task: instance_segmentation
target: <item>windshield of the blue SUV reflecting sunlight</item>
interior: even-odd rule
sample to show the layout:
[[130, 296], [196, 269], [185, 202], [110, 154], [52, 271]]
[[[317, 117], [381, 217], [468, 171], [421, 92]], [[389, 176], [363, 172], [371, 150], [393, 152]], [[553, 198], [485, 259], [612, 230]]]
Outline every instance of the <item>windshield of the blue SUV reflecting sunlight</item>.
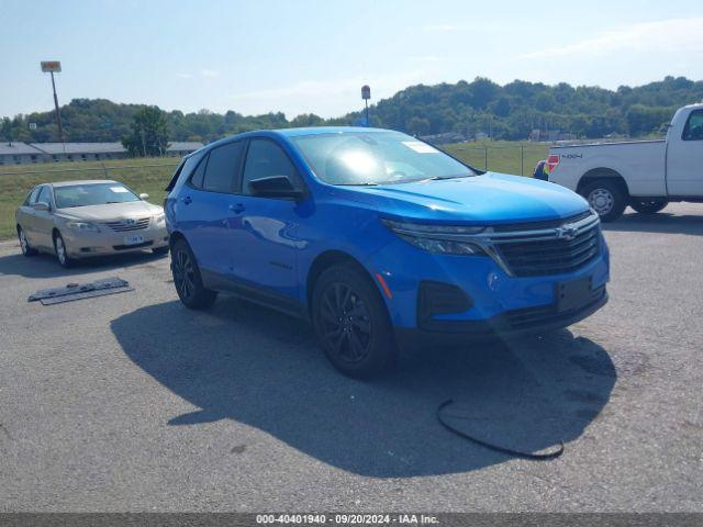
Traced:
[[476, 176], [469, 167], [400, 132], [291, 137], [315, 176], [331, 184], [403, 183]]

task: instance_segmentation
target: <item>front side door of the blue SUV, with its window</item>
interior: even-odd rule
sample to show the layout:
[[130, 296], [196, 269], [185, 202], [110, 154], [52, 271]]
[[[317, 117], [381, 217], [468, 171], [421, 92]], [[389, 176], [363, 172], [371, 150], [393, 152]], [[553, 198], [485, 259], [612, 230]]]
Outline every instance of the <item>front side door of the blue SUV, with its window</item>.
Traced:
[[269, 292], [298, 299], [295, 254], [301, 244], [297, 237], [300, 204], [287, 198], [252, 195], [249, 181], [268, 176], [288, 176], [294, 186], [303, 188], [293, 162], [277, 142], [253, 138], [231, 222], [235, 228], [228, 246], [234, 274]]

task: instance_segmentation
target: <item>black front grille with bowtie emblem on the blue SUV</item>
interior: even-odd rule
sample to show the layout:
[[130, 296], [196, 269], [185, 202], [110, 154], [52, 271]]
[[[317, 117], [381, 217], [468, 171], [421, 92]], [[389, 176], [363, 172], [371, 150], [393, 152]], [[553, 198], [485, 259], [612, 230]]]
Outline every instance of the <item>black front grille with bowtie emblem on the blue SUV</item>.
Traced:
[[[572, 227], [579, 225], [578, 227]], [[574, 228], [571, 239], [559, 237], [559, 228]], [[561, 234], [563, 236], [563, 233]], [[505, 266], [515, 277], [540, 277], [574, 271], [601, 250], [598, 216], [565, 220], [560, 226], [545, 231], [511, 231], [493, 239]]]

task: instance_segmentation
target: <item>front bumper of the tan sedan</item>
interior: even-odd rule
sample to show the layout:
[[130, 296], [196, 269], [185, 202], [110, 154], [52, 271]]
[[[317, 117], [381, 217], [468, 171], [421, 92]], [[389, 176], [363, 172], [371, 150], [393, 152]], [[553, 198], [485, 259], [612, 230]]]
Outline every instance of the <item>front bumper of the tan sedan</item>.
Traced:
[[[62, 236], [71, 258], [120, 255], [168, 247], [168, 231], [165, 224], [149, 225], [127, 233], [112, 232], [104, 226], [100, 226], [99, 233], [66, 228], [62, 231]], [[134, 243], [134, 239], [130, 239], [133, 236], [141, 236], [142, 240]]]

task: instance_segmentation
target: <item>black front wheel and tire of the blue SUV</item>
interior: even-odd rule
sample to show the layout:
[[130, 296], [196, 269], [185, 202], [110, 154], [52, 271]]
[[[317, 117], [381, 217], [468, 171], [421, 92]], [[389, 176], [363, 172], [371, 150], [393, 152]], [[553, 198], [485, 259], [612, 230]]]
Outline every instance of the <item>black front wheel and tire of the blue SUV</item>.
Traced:
[[397, 359], [386, 304], [376, 284], [354, 265], [322, 272], [313, 290], [312, 322], [325, 356], [348, 377], [378, 375]]

